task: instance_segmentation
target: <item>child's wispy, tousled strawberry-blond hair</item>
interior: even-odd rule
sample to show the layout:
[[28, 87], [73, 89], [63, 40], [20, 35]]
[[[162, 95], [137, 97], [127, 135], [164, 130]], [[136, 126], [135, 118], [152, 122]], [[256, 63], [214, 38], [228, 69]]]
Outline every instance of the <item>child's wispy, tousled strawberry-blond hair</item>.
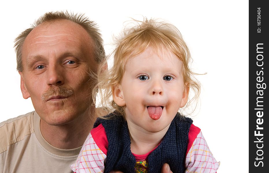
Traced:
[[109, 111], [117, 110], [120, 114], [124, 115], [124, 108], [118, 106], [111, 99], [112, 91], [115, 86], [120, 84], [127, 61], [132, 57], [138, 56], [148, 47], [151, 47], [153, 52], [158, 55], [161, 55], [165, 51], [171, 52], [182, 61], [183, 80], [194, 93], [194, 97], [189, 99], [185, 107], [188, 107], [192, 100], [198, 101], [201, 86], [194, 77], [196, 73], [192, 72], [189, 67], [191, 60], [190, 51], [179, 30], [167, 22], [153, 19], [148, 20], [147, 18], [144, 18], [144, 21], [135, 20], [134, 23], [136, 26], [126, 27], [121, 32], [122, 35], [116, 39], [114, 65], [112, 68], [98, 74], [96, 89], [99, 90], [101, 96], [101, 106], [108, 108], [108, 110], [111, 108]]

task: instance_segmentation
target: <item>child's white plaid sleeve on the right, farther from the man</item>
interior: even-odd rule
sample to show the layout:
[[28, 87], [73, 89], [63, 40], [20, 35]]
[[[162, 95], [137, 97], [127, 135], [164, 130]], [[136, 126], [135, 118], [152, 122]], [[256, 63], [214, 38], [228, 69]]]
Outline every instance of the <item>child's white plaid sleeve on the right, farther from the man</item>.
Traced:
[[219, 166], [200, 131], [186, 155], [185, 173], [215, 173]]

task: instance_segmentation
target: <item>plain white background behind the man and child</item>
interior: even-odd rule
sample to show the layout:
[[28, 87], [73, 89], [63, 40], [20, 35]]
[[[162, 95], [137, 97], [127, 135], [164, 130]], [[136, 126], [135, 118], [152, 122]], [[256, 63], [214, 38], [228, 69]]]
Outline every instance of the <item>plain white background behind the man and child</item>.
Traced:
[[218, 173], [248, 172], [248, 1], [3, 1], [1, 19], [0, 122], [34, 110], [23, 99], [16, 72], [15, 37], [49, 11], [85, 13], [97, 22], [106, 53], [129, 17], [162, 18], [189, 46], [202, 84], [201, 109], [193, 118], [217, 161]]

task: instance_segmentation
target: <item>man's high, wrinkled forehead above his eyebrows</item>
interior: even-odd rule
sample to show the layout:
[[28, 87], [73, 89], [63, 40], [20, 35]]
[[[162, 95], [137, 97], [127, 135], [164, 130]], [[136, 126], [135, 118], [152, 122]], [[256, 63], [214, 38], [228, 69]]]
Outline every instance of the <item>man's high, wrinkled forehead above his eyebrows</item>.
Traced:
[[80, 46], [92, 50], [92, 39], [82, 26], [70, 20], [57, 20], [36, 26], [26, 37], [23, 52], [46, 51], [48, 47], [64, 47], [64, 44], [69, 45], [68, 49]]

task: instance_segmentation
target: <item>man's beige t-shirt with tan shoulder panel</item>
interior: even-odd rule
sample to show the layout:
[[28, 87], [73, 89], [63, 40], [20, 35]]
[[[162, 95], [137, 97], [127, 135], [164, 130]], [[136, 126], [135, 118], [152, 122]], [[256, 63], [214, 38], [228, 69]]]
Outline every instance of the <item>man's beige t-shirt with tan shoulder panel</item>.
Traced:
[[0, 123], [0, 172], [72, 173], [81, 147], [63, 150], [41, 135], [40, 117], [33, 111]]

